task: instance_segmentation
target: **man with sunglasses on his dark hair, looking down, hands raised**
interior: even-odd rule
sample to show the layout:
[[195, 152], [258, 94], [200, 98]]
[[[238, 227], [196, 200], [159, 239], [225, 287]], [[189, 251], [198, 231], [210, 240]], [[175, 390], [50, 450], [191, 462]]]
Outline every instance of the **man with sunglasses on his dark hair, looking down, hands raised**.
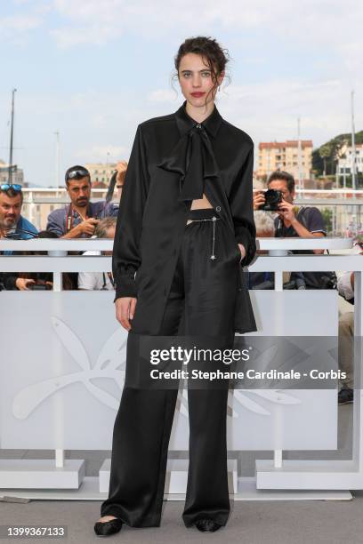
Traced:
[[65, 180], [70, 204], [48, 215], [47, 230], [60, 238], [85, 238], [93, 236], [99, 220], [117, 216], [117, 205], [105, 201], [90, 202], [91, 176], [84, 166], [71, 166]]

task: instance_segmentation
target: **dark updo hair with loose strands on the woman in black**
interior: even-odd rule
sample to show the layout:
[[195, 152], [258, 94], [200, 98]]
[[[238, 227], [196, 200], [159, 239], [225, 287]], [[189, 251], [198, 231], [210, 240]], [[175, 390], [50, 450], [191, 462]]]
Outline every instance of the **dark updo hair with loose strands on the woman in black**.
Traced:
[[[188, 53], [201, 55], [211, 70], [212, 79], [214, 81], [213, 88], [206, 95], [206, 100], [211, 92], [214, 92], [218, 86], [217, 77], [225, 70], [227, 62], [230, 60], [230, 54], [227, 49], [222, 49], [221, 45], [211, 37], [197, 36], [187, 38], [179, 47], [179, 50], [174, 58], [176, 74], [174, 77], [179, 77], [179, 66], [181, 59]], [[227, 76], [229, 78], [229, 76]]]

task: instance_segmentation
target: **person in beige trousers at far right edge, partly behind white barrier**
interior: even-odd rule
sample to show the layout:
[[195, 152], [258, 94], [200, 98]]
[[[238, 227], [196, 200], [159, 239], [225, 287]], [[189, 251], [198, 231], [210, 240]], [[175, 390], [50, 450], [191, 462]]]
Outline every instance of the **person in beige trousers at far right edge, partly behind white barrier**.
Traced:
[[[354, 244], [351, 253], [362, 254], [360, 244]], [[337, 289], [343, 299], [354, 304], [354, 272], [336, 272]], [[342, 380], [342, 388], [338, 393], [338, 404], [353, 402], [353, 335], [354, 312], [345, 312], [339, 317], [339, 368], [346, 372], [346, 379]]]

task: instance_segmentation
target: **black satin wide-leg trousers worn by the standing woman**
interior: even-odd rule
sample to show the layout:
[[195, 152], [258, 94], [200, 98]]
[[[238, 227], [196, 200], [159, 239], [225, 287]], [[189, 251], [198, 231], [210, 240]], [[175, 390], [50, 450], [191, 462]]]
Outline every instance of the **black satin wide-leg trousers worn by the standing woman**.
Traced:
[[[218, 217], [213, 209], [190, 212], [194, 221], [185, 227], [159, 335], [209, 336], [214, 346], [220, 339], [223, 348], [231, 348], [240, 252], [233, 233], [213, 216]], [[131, 334], [137, 330], [129, 339]], [[128, 364], [137, 361], [127, 359]], [[119, 517], [133, 527], [160, 525], [177, 395], [176, 388], [125, 385], [101, 516]], [[190, 465], [182, 514], [187, 527], [198, 519], [227, 523], [227, 400], [228, 386], [188, 389]]]

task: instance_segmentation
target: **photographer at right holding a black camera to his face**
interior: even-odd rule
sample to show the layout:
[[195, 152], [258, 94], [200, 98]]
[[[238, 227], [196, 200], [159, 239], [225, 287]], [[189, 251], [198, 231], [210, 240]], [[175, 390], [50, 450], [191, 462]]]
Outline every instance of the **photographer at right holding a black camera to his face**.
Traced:
[[[313, 238], [327, 236], [324, 219], [316, 207], [294, 206], [294, 178], [288, 172], [276, 171], [270, 174], [269, 191], [256, 191], [254, 194], [254, 210], [275, 211], [275, 236], [280, 238], [297, 237]], [[270, 192], [270, 189], [276, 191]], [[266, 196], [268, 200], [266, 200]], [[322, 254], [324, 250], [294, 250], [296, 254]], [[306, 289], [330, 288], [330, 272], [292, 273], [291, 281], [303, 281]]]

